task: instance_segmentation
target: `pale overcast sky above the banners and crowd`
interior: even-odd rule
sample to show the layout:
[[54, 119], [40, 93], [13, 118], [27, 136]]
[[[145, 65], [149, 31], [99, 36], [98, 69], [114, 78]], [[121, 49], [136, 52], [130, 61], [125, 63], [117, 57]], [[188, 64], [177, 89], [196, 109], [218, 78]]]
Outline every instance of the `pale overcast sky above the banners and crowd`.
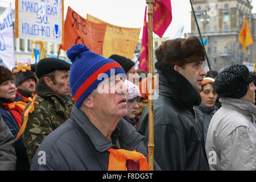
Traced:
[[[0, 6], [8, 6], [8, 2], [12, 3], [14, 9], [15, 0], [0, 0]], [[252, 11], [256, 13], [256, 0], [252, 2], [254, 6]], [[184, 32], [190, 32], [191, 30], [191, 5], [189, 0], [171, 0], [171, 3], [172, 22], [163, 35], [163, 37], [168, 38], [174, 38], [176, 32], [182, 26], [184, 26]], [[143, 28], [146, 0], [64, 0], [64, 18], [68, 6], [84, 18], [88, 13], [117, 26]], [[158, 37], [157, 35], [154, 36]]]

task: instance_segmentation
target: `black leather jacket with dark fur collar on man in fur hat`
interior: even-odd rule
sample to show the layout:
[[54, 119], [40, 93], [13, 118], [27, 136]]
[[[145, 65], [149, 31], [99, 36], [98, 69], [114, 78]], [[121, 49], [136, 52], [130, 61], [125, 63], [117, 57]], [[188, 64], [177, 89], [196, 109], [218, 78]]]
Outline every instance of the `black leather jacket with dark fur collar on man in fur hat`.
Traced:
[[[161, 70], [154, 100], [155, 160], [163, 170], [209, 170], [193, 111], [201, 97], [180, 73], [168, 65]], [[147, 137], [148, 106], [140, 121], [139, 132]]]

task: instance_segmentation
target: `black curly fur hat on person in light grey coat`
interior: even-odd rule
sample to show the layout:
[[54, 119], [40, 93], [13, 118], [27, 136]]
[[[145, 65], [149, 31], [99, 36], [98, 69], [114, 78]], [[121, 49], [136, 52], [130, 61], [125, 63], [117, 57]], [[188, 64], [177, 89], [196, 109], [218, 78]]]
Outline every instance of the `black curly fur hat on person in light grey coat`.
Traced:
[[247, 93], [247, 85], [255, 80], [255, 73], [242, 64], [224, 69], [215, 79], [213, 88], [220, 97], [241, 98]]

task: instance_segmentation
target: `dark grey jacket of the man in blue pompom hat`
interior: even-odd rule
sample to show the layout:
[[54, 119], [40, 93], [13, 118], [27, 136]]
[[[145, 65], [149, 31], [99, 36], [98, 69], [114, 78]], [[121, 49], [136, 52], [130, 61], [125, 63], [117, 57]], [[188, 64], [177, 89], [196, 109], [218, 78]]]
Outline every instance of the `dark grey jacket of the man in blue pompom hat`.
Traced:
[[[112, 133], [125, 150], [141, 152], [147, 158], [143, 135], [121, 119]], [[31, 163], [31, 170], [108, 170], [109, 148], [113, 144], [74, 105], [71, 118], [52, 131], [40, 144]], [[45, 155], [44, 155], [45, 154]], [[46, 160], [43, 159], [46, 156]], [[159, 167], [156, 164], [156, 169]]]

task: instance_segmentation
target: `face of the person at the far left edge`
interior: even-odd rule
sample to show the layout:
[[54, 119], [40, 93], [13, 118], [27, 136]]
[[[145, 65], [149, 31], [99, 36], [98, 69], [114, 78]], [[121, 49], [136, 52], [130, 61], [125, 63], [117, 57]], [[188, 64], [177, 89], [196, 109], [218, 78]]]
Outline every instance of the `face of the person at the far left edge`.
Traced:
[[0, 97], [11, 101], [16, 97], [16, 86], [14, 80], [6, 80], [0, 85]]

